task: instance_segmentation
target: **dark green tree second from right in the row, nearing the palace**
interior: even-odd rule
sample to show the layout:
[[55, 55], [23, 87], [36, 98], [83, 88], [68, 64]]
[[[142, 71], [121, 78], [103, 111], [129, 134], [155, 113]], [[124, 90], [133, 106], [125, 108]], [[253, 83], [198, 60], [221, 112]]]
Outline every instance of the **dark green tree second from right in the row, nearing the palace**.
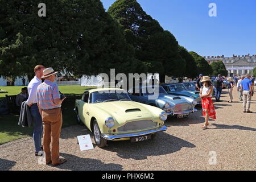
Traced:
[[189, 52], [193, 58], [196, 61], [196, 67], [197, 67], [197, 75], [203, 74], [203, 75], [212, 75], [212, 67], [208, 64], [208, 62], [204, 59], [204, 57], [198, 55], [196, 52]]

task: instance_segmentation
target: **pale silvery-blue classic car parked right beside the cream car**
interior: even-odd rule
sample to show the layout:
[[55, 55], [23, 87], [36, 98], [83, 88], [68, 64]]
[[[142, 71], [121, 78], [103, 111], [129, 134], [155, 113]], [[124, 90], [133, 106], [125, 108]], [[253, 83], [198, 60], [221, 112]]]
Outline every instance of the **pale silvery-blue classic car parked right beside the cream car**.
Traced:
[[[158, 96], [150, 98], [154, 94], [148, 93], [148, 88], [155, 91], [158, 89]], [[138, 92], [134, 92], [137, 89]], [[177, 118], [188, 117], [190, 113], [197, 111], [195, 99], [185, 96], [175, 96], [168, 94], [162, 86], [137, 86], [128, 91], [131, 100], [159, 107], [166, 111], [168, 115], [175, 115]]]

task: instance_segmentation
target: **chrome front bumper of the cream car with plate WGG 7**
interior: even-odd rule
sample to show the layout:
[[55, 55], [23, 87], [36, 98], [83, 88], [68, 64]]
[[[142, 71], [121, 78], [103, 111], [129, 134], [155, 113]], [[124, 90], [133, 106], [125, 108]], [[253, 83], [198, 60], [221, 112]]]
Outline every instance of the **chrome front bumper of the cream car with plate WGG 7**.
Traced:
[[166, 126], [160, 126], [155, 130], [148, 130], [148, 131], [143, 131], [141, 133], [131, 133], [131, 134], [120, 134], [120, 135], [112, 135], [112, 134], [101, 134], [102, 138], [105, 138], [106, 140], [114, 140], [118, 138], [130, 138], [130, 137], [138, 137], [141, 135], [147, 135], [147, 134], [152, 134], [156, 133], [158, 131], [166, 131], [167, 127]]

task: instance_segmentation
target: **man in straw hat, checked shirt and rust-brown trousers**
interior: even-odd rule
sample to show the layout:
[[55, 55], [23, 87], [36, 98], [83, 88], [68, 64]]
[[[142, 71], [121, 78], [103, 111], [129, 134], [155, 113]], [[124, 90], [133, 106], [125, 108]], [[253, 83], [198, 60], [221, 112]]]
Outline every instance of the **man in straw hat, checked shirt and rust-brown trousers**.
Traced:
[[[38, 86], [37, 98], [39, 111], [43, 119], [43, 147], [46, 154], [46, 164], [52, 163], [53, 166], [63, 164], [67, 160], [60, 159], [59, 139], [62, 126], [62, 112], [59, 88], [55, 81], [55, 72], [52, 68], [46, 68], [43, 71], [44, 82]], [[52, 151], [50, 151], [52, 143]]]

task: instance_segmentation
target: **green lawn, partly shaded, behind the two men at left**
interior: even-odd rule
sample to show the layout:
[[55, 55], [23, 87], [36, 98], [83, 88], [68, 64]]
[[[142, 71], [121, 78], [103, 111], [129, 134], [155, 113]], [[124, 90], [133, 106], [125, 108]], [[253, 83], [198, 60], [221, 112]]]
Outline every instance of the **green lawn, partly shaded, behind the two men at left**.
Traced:
[[[8, 95], [16, 95], [20, 93], [24, 86], [2, 86], [1, 89], [7, 90]], [[80, 99], [85, 89], [91, 87], [79, 85], [60, 85], [59, 90], [64, 93], [67, 98], [63, 102], [63, 127], [76, 125], [76, 116], [73, 111], [75, 100]], [[0, 93], [0, 100], [5, 98], [6, 93]], [[32, 135], [32, 127], [18, 126], [19, 115], [0, 115], [0, 144], [10, 142], [15, 139], [24, 138]]]

